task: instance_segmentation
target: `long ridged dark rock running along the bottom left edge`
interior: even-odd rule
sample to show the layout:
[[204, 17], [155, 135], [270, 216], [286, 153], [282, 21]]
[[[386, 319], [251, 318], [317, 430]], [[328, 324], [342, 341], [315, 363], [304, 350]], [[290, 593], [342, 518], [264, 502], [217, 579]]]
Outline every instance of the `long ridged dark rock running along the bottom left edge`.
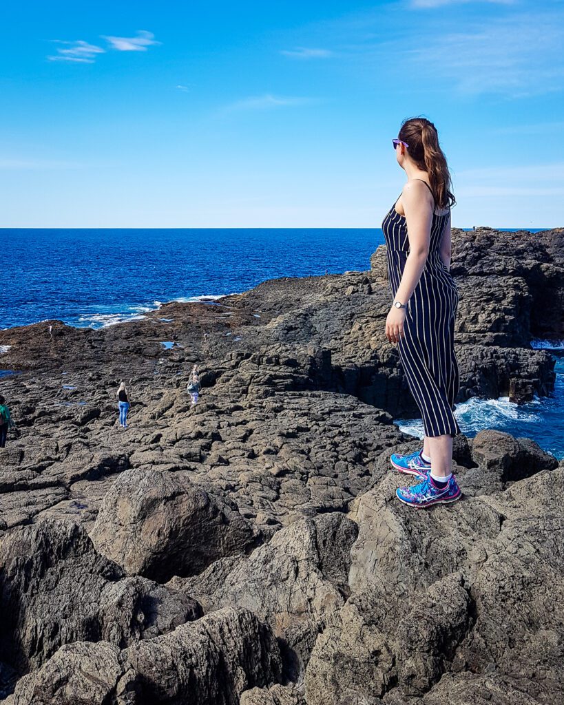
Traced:
[[18, 682], [7, 705], [237, 705], [243, 690], [280, 677], [276, 640], [249, 612], [224, 609], [119, 651], [63, 646]]

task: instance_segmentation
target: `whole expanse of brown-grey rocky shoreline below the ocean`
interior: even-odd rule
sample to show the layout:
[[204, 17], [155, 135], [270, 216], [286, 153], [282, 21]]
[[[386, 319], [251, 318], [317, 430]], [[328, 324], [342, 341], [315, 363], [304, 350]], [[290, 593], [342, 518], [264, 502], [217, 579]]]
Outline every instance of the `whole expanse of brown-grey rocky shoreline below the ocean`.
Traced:
[[[563, 245], [453, 231], [458, 402], [550, 393], [531, 341], [564, 338]], [[21, 373], [1, 379], [6, 703], [563, 699], [564, 462], [484, 429], [455, 439], [462, 501], [396, 503], [389, 456], [418, 441], [393, 419], [417, 407], [385, 261], [97, 331], [0, 331]]]

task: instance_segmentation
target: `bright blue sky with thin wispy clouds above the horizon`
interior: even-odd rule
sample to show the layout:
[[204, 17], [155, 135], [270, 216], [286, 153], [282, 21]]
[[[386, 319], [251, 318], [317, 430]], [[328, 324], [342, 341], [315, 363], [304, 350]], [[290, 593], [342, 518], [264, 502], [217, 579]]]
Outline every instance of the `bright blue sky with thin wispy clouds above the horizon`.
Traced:
[[4, 3], [4, 227], [379, 227], [403, 118], [460, 227], [564, 225], [564, 0]]

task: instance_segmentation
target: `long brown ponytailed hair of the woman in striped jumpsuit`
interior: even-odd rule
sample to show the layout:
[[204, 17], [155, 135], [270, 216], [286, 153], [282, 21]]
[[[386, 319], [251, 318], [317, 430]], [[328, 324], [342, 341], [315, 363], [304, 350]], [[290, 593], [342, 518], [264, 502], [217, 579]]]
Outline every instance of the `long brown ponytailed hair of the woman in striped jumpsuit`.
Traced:
[[451, 207], [456, 203], [450, 171], [441, 146], [436, 127], [427, 118], [407, 118], [404, 120], [398, 137], [407, 142], [407, 152], [422, 171], [429, 172], [431, 190], [435, 204], [441, 209]]

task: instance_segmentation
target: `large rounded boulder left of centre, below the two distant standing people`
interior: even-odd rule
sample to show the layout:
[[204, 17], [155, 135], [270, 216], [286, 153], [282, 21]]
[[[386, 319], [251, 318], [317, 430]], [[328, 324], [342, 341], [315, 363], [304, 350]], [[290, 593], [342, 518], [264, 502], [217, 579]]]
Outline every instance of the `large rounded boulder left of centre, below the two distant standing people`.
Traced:
[[194, 575], [259, 539], [253, 525], [219, 498], [178, 474], [123, 472], [104, 498], [92, 529], [97, 550], [128, 575], [159, 582]]

